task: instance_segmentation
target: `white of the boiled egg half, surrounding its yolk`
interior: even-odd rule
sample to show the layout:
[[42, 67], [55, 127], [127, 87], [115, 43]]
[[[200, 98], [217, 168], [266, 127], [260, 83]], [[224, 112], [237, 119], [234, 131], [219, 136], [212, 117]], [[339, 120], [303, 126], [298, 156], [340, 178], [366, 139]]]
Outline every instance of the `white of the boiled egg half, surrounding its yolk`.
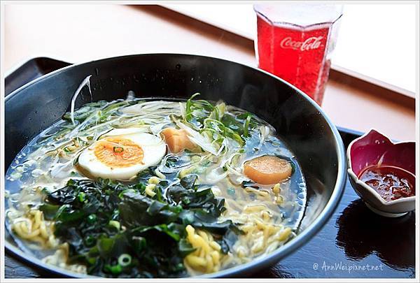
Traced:
[[112, 180], [130, 180], [141, 170], [159, 164], [166, 154], [166, 144], [162, 138], [150, 133], [145, 133], [144, 129], [113, 129], [102, 135], [99, 141], [102, 138], [110, 136], [126, 138], [127, 140], [131, 140], [132, 143], [139, 145], [144, 154], [141, 163], [127, 167], [111, 168], [99, 161], [94, 155], [94, 147], [98, 143], [96, 142], [83, 150], [78, 158], [78, 166], [80, 166], [82, 171], [87, 173], [85, 175], [94, 178], [102, 177], [104, 179]]

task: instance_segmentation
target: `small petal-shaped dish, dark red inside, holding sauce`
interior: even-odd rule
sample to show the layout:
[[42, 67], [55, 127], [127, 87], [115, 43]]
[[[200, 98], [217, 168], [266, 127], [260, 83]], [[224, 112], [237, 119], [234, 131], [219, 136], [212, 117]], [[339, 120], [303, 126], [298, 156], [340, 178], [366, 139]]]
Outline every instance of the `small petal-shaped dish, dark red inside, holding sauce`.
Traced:
[[373, 212], [399, 217], [414, 210], [416, 143], [393, 143], [374, 129], [347, 149], [350, 182]]

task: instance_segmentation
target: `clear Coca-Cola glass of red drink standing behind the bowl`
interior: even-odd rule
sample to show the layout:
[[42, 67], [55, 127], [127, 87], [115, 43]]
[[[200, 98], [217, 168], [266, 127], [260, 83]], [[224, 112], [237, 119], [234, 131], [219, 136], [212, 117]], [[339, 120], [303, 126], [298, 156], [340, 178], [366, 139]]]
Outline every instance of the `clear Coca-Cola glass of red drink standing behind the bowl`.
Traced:
[[321, 105], [335, 48], [341, 5], [258, 4], [258, 66]]

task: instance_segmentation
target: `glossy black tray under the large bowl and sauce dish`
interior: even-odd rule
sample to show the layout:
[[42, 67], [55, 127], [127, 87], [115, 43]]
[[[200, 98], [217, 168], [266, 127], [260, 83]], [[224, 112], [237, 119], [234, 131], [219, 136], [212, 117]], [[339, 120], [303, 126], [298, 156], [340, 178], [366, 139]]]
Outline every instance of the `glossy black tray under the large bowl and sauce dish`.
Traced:
[[[38, 57], [5, 78], [6, 95], [46, 73], [70, 65]], [[339, 128], [344, 146], [361, 133]], [[306, 245], [253, 277], [263, 278], [414, 278], [415, 215], [384, 218], [371, 212], [346, 182], [334, 215]], [[6, 278], [57, 277], [15, 258], [6, 250]]]

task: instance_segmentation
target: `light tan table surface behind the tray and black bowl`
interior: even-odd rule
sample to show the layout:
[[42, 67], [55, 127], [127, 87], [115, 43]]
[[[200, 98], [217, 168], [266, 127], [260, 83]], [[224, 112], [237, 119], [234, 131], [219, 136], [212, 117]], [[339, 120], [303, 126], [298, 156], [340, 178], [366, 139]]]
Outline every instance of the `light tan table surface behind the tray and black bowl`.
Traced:
[[[4, 16], [5, 70], [39, 55], [77, 63], [155, 52], [256, 65], [252, 41], [159, 6], [9, 4]], [[339, 79], [328, 82], [323, 109], [338, 126], [414, 140], [414, 100], [408, 104]]]

